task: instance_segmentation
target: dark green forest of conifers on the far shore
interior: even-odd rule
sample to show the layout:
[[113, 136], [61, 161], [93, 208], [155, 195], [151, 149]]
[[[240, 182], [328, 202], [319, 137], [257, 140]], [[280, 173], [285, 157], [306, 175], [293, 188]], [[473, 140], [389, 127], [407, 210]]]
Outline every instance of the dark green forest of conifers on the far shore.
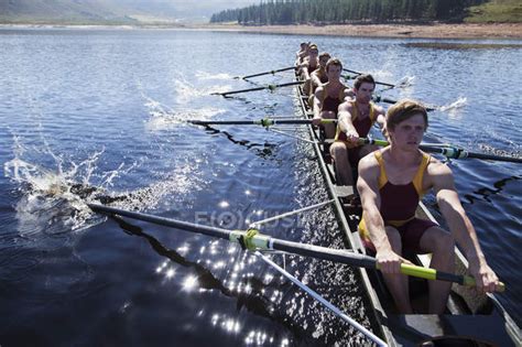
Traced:
[[459, 21], [468, 7], [482, 2], [486, 0], [268, 0], [221, 11], [210, 22], [271, 25]]

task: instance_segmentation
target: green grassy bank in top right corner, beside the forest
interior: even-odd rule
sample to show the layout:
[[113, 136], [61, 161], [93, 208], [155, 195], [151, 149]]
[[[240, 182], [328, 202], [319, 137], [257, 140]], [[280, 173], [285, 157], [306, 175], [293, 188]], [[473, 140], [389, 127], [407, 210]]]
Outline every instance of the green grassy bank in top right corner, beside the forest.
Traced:
[[522, 23], [522, 1], [492, 0], [469, 8], [467, 23]]

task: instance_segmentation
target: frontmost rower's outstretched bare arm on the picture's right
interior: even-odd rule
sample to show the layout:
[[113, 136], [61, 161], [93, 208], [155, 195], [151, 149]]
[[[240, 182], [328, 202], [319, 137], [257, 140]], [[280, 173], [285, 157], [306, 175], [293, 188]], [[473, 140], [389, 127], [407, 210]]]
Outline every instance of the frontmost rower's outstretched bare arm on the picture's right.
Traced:
[[460, 204], [452, 170], [437, 161], [428, 165], [427, 172], [441, 213], [469, 261], [470, 272], [477, 280], [478, 289], [494, 291], [499, 280], [486, 262], [477, 232]]

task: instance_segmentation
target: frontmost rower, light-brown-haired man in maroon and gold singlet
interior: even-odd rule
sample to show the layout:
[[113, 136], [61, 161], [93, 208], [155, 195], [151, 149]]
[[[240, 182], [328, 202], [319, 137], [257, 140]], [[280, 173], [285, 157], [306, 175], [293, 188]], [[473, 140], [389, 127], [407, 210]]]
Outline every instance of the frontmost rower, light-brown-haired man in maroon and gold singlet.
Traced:
[[[387, 131], [391, 144], [360, 161], [357, 182], [363, 209], [360, 236], [366, 247], [376, 251], [378, 267], [398, 310], [405, 314], [413, 310], [407, 279], [400, 274], [401, 263], [407, 262], [402, 258], [404, 251], [432, 253], [431, 268], [453, 273], [456, 241], [469, 261], [477, 290], [493, 292], [500, 288], [460, 204], [452, 170], [418, 149], [426, 128], [427, 113], [421, 104], [402, 100], [390, 107]], [[415, 217], [422, 195], [429, 189], [450, 232]], [[428, 310], [443, 314], [450, 283], [429, 281], [428, 285]]]

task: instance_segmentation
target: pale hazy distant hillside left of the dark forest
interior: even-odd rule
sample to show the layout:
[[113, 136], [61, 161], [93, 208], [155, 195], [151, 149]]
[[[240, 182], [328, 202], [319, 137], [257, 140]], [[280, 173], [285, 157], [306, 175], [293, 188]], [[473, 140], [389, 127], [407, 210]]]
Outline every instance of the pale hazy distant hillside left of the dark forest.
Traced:
[[0, 23], [146, 24], [208, 22], [255, 0], [0, 0]]

